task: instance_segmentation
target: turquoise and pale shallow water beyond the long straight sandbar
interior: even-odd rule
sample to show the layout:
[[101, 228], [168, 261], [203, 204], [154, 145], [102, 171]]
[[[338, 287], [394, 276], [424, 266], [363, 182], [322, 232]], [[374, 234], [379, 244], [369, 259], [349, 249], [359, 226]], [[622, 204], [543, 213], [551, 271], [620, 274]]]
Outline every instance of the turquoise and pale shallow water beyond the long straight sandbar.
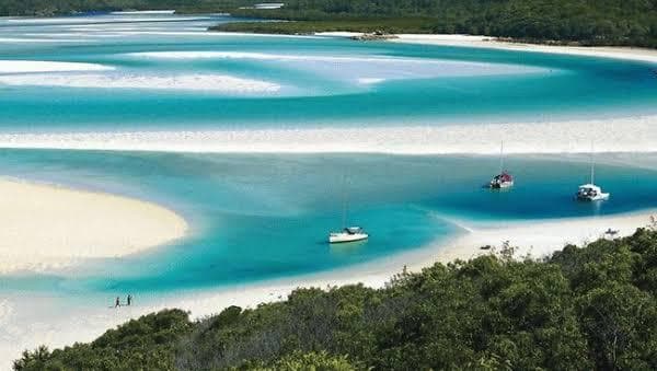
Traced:
[[[0, 130], [443, 125], [654, 113], [657, 106], [654, 66], [648, 63], [203, 32], [206, 26], [227, 20], [217, 15], [0, 20], [0, 40], [39, 40], [3, 42], [0, 59], [101, 63], [116, 68], [101, 73], [111, 77], [193, 71], [280, 85], [280, 91], [265, 94], [0, 84]], [[171, 59], [135, 53], [233, 56]], [[335, 57], [342, 59], [331, 59]], [[456, 66], [440, 65], [454, 62]], [[474, 76], [461, 76], [465, 72]], [[84, 80], [80, 74], [88, 72], [55, 74]], [[362, 83], [362, 79], [383, 82]]]

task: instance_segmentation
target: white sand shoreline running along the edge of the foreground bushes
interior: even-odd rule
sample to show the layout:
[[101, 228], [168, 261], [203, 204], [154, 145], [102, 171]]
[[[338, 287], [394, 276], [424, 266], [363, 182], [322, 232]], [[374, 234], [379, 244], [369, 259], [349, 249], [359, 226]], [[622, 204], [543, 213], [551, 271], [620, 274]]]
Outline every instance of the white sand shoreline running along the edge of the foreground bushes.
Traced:
[[[491, 251], [483, 251], [480, 247], [489, 244], [499, 248], [504, 241], [509, 240], [509, 235], [514, 235], [509, 241], [512, 246], [522, 246], [516, 252], [516, 257], [521, 258], [527, 253], [531, 253], [533, 258], [540, 258], [562, 250], [567, 243], [581, 245], [585, 242], [592, 242], [597, 237], [604, 236], [604, 231], [609, 228], [619, 231], [614, 237], [631, 235], [637, 228], [647, 227], [650, 223], [649, 218], [652, 216], [657, 216], [657, 209], [606, 217], [486, 223], [481, 227], [472, 227], [468, 222], [452, 220], [457, 225], [460, 225], [463, 233], [451, 240], [429, 243], [424, 247], [396, 254], [392, 257], [382, 257], [373, 262], [323, 273], [235, 285], [227, 288], [188, 290], [164, 295], [159, 294], [157, 298], [154, 294], [140, 297], [136, 298], [137, 304], [135, 306], [118, 310], [108, 310], [104, 306], [84, 308], [81, 310], [83, 315], [76, 317], [60, 315], [60, 317], [50, 318], [47, 324], [43, 322], [38, 326], [20, 326], [16, 322], [27, 321], [21, 318], [21, 315], [25, 318], [33, 318], [34, 316], [48, 317], [49, 313], [41, 313], [38, 309], [32, 310], [32, 306], [22, 311], [21, 306], [28, 304], [20, 303], [19, 300], [12, 301], [12, 298], [9, 298], [3, 301], [0, 300], [0, 324], [13, 323], [5, 332], [14, 332], [14, 335], [20, 335], [21, 338], [11, 344], [3, 344], [0, 347], [0, 357], [14, 359], [19, 357], [20, 351], [32, 349], [41, 344], [46, 344], [53, 348], [68, 346], [76, 341], [91, 341], [107, 329], [114, 328], [130, 318], [163, 309], [178, 308], [189, 311], [191, 317], [194, 320], [218, 314], [230, 305], [247, 309], [256, 308], [262, 303], [285, 300], [297, 288], [327, 289], [334, 286], [356, 283], [362, 283], [374, 289], [381, 288], [390, 281], [393, 275], [402, 273], [404, 267], [408, 271], [418, 271], [435, 263], [447, 264], [454, 259], [469, 259], [482, 254], [489, 254]], [[39, 298], [37, 300], [46, 303], [39, 308], [65, 305], [62, 303], [47, 304], [53, 300], [51, 298]], [[1, 312], [4, 312], [4, 316]], [[57, 312], [66, 313], [65, 310]], [[0, 331], [0, 337], [2, 335], [2, 331]]]

